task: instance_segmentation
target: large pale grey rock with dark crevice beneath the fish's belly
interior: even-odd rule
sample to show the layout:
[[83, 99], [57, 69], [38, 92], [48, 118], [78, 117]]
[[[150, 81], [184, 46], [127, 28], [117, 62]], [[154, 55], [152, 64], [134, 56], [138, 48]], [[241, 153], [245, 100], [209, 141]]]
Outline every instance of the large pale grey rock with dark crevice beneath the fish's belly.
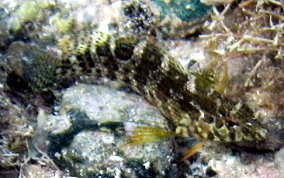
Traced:
[[168, 129], [164, 117], [135, 94], [81, 84], [64, 92], [59, 113], [40, 128], [50, 133], [50, 157], [71, 175], [163, 177], [173, 169], [170, 141], [128, 144], [138, 126]]

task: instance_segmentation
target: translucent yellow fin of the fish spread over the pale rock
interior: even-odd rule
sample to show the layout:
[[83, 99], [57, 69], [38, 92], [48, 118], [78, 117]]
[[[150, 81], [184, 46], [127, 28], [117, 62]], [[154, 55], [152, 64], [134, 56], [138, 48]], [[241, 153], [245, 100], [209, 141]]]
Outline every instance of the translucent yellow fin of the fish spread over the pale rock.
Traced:
[[130, 145], [143, 145], [150, 142], [160, 141], [169, 138], [174, 134], [156, 127], [136, 127], [133, 135], [128, 137], [128, 144]]

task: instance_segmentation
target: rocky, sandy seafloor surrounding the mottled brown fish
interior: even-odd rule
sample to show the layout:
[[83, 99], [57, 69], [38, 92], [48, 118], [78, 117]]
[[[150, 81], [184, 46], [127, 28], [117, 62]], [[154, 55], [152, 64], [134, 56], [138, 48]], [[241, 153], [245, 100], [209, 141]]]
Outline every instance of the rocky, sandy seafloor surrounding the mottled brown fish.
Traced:
[[[0, 177], [283, 178], [284, 2], [204, 2], [1, 0]], [[280, 141], [266, 140], [261, 151], [208, 141], [181, 161], [180, 149], [196, 140], [126, 144], [135, 127], [169, 126], [119, 82], [81, 77], [53, 95], [30, 89], [48, 73], [31, 61], [60, 58], [60, 40], [90, 29], [155, 41], [191, 84], [193, 72], [213, 71], [213, 88], [269, 118], [262, 122]]]

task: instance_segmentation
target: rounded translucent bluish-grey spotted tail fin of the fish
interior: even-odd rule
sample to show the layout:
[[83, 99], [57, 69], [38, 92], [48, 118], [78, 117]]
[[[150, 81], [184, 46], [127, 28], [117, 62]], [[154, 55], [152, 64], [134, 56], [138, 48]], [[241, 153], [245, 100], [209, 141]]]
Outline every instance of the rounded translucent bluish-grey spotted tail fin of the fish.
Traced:
[[[10, 45], [8, 51], [8, 64], [10, 73], [20, 77], [27, 85], [27, 88], [33, 91], [45, 91], [51, 87], [55, 80], [55, 70], [58, 60], [52, 57], [36, 45], [23, 42], [14, 42]], [[17, 82], [10, 82], [10, 87], [17, 85]], [[24, 88], [24, 85], [19, 86]]]

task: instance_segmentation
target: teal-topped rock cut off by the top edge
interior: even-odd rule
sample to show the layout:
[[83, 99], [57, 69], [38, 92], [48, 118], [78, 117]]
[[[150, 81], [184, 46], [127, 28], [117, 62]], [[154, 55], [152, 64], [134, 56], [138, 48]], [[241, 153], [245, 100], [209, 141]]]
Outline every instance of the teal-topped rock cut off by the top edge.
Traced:
[[152, 0], [163, 38], [186, 38], [202, 30], [211, 6], [200, 0]]

